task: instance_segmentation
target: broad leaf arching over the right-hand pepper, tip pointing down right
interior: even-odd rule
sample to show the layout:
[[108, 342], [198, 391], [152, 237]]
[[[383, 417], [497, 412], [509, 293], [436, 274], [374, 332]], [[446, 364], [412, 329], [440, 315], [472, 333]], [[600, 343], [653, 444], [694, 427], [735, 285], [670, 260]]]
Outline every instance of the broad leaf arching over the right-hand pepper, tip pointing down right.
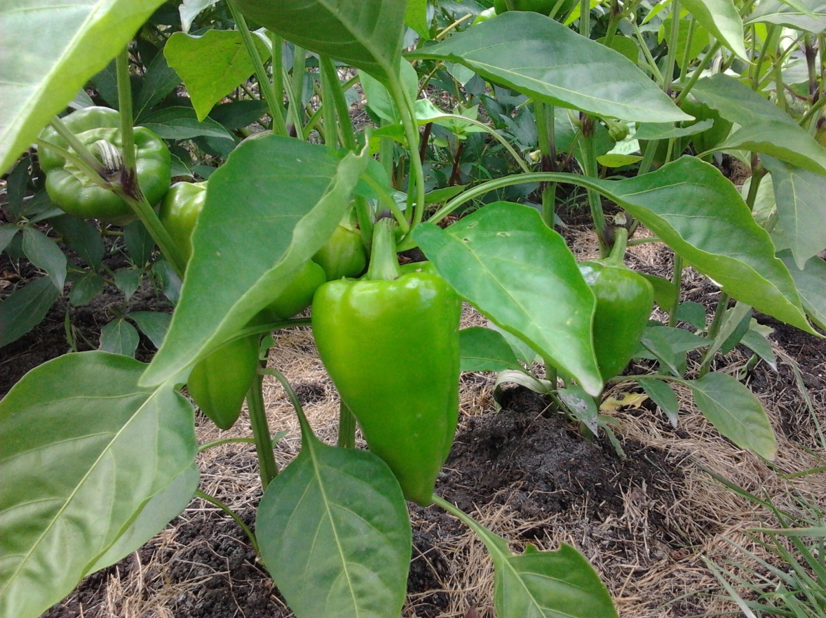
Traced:
[[730, 296], [814, 333], [771, 238], [714, 166], [682, 157], [640, 177], [591, 182]]

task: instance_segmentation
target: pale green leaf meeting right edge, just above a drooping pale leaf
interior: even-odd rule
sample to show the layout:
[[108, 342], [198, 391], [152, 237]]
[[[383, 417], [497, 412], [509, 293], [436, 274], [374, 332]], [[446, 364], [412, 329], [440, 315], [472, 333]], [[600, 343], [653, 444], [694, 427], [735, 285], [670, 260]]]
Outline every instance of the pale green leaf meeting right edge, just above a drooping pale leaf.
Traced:
[[785, 111], [748, 86], [717, 73], [700, 79], [691, 94], [717, 110], [724, 119], [740, 125], [740, 129], [717, 144], [714, 150], [753, 150], [810, 172], [826, 174], [826, 149]]

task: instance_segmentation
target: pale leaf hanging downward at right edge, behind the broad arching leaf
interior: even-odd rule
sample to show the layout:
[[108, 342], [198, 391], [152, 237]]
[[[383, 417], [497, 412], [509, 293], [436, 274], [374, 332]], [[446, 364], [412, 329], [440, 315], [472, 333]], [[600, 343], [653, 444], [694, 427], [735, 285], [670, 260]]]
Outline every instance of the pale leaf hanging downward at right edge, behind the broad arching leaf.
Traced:
[[826, 247], [826, 177], [776, 158], [761, 157], [771, 172], [777, 216], [798, 270]]

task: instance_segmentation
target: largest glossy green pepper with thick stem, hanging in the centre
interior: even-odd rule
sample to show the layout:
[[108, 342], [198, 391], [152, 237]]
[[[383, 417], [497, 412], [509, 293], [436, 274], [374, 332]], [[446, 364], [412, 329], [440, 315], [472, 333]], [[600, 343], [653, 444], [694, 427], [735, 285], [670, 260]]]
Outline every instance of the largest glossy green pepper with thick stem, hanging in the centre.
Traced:
[[316, 291], [313, 335], [370, 450], [426, 506], [458, 420], [462, 303], [428, 262], [398, 266], [389, 220], [376, 226], [366, 276]]

